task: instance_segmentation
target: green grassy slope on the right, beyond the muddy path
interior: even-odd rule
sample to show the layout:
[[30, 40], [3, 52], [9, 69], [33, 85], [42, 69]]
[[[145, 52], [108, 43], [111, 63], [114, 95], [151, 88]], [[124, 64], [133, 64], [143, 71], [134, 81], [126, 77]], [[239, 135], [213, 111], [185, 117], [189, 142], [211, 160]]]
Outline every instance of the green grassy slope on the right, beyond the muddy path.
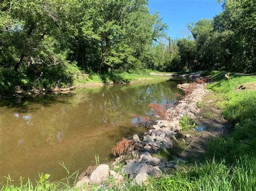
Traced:
[[[215, 82], [207, 89], [212, 100], [230, 122], [230, 133], [208, 143], [208, 151], [192, 168], [174, 171], [152, 186], [169, 190], [253, 190], [256, 187], [256, 77], [221, 72], [205, 73]], [[239, 88], [240, 87], [240, 88]]]

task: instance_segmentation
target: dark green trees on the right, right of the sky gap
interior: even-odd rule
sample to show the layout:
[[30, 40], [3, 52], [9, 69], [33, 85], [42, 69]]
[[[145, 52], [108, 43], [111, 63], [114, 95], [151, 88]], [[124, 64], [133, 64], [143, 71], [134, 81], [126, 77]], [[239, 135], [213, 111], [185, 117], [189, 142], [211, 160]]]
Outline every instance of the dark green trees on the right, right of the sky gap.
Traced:
[[[183, 38], [153, 48], [154, 68], [161, 70], [217, 69], [255, 72], [255, 8], [252, 0], [226, 0], [212, 20], [188, 24], [193, 39]], [[177, 47], [177, 48], [173, 48]], [[157, 52], [162, 52], [158, 54]], [[171, 55], [172, 57], [171, 57]], [[167, 55], [165, 55], [167, 54]], [[173, 56], [174, 55], [174, 56]]]

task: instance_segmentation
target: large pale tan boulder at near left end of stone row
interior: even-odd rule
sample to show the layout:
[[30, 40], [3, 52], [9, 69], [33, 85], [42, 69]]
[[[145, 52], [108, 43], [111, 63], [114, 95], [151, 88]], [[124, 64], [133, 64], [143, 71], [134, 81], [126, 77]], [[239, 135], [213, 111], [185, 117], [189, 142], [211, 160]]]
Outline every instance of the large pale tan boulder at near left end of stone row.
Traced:
[[90, 185], [99, 185], [109, 178], [109, 165], [99, 165], [90, 177]]

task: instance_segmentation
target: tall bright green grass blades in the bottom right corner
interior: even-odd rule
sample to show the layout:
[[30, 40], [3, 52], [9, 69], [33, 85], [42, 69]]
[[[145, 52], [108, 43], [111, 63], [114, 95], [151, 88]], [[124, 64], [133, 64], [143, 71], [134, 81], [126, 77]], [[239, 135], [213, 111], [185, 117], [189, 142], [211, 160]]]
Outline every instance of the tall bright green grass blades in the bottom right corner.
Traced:
[[175, 171], [172, 176], [163, 176], [152, 181], [149, 188], [164, 190], [253, 190], [255, 158], [240, 157], [233, 166], [225, 161], [206, 162], [194, 166], [188, 172]]

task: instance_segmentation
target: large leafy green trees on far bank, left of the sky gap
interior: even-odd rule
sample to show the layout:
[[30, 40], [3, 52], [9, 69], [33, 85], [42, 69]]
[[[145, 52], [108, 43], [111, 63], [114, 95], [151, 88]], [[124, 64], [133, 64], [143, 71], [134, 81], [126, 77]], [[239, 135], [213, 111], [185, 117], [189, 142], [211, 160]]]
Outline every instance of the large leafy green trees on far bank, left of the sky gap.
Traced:
[[166, 29], [146, 0], [2, 0], [0, 9], [0, 73], [30, 83], [69, 82], [78, 67], [145, 68], [149, 47]]

